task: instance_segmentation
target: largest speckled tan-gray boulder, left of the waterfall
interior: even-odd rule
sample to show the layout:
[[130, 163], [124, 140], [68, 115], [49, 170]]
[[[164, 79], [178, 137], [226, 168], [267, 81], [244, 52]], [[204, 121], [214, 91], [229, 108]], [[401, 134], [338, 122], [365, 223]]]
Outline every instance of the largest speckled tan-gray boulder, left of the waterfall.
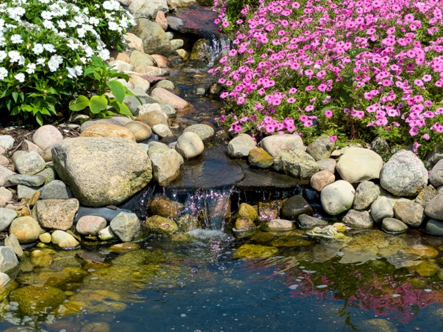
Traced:
[[66, 138], [52, 154], [57, 174], [82, 205], [118, 205], [152, 178], [145, 151], [124, 138]]

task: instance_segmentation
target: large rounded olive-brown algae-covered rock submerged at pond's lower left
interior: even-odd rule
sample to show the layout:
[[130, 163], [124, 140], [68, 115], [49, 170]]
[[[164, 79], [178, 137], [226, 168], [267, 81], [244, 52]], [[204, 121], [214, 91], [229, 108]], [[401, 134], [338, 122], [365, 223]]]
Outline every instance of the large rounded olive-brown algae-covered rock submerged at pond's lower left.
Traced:
[[47, 313], [50, 308], [55, 311], [65, 299], [63, 291], [51, 286], [25, 286], [15, 289], [9, 295], [10, 302], [17, 302], [21, 313], [30, 316]]

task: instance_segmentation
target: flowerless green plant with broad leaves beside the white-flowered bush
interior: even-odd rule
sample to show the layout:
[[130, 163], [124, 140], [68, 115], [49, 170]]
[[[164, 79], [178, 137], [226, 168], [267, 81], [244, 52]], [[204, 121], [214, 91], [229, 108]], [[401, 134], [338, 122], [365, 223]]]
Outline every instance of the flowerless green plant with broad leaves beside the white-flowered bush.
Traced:
[[[116, 78], [129, 80], [128, 75], [118, 73], [116, 69], [111, 68], [102, 59], [93, 55], [91, 64], [84, 71], [84, 82], [89, 82], [89, 86], [93, 87], [94, 94], [91, 95], [91, 98], [79, 95], [75, 102], [71, 102], [69, 109], [77, 112], [88, 107], [91, 118], [109, 118], [118, 114], [133, 118], [131, 111], [123, 104], [123, 100], [127, 95], [134, 96], [134, 93], [121, 82], [111, 80]], [[113, 98], [109, 96], [109, 92], [114, 95]], [[141, 100], [138, 99], [138, 101], [141, 104]]]

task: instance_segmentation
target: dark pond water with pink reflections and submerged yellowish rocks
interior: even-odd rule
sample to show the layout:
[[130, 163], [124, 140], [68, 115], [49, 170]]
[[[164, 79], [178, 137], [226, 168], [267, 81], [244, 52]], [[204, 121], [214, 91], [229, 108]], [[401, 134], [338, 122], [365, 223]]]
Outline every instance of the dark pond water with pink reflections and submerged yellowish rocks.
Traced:
[[[443, 331], [442, 239], [379, 230], [349, 235], [347, 243], [299, 230], [235, 240], [193, 230], [77, 252], [36, 248], [41, 252], [31, 257], [39, 259], [21, 262], [0, 294], [0, 328]], [[291, 246], [271, 247], [282, 237], [292, 238]], [[239, 254], [245, 245], [264, 248], [268, 258], [233, 259], [248, 255]]]

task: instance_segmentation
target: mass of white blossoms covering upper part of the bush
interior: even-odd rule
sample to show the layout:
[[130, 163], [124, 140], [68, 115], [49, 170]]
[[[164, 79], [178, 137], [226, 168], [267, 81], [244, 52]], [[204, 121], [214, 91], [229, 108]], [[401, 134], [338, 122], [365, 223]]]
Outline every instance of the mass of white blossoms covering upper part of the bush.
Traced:
[[[109, 59], [109, 51], [97, 33], [99, 26], [100, 29], [123, 33], [134, 24], [133, 17], [115, 0], [102, 3], [102, 17], [91, 16], [87, 8], [80, 9], [64, 0], [38, 1], [46, 5], [39, 15], [42, 26], [24, 19], [26, 8], [33, 6], [33, 1], [0, 3], [0, 81], [14, 77], [22, 83], [25, 73], [35, 73], [38, 66], [48, 68], [50, 72], [62, 69], [67, 77], [78, 77], [82, 75], [80, 65], [89, 62], [94, 54]], [[44, 29], [51, 31], [42, 37], [42, 31], [48, 32]], [[78, 57], [66, 55], [69, 53], [66, 50], [72, 50], [72, 54]], [[12, 68], [12, 71], [9, 73], [6, 68]]]

